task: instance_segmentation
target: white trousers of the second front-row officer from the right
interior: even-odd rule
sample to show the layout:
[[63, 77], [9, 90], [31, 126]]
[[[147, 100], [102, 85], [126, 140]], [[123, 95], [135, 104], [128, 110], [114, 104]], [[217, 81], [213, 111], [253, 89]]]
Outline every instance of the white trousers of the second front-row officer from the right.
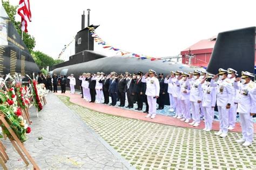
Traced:
[[219, 107], [218, 106], [218, 112], [219, 112], [219, 120], [220, 120], [220, 131], [223, 133], [227, 133], [228, 128], [228, 109], [226, 107]]

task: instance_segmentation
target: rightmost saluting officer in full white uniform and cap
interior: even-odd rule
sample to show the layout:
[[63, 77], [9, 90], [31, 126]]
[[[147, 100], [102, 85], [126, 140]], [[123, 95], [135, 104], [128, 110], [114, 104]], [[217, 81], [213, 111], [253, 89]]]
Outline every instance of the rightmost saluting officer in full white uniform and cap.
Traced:
[[242, 138], [236, 141], [242, 146], [250, 146], [253, 140], [252, 116], [256, 115], [256, 84], [251, 78], [254, 78], [252, 73], [242, 72], [241, 78], [234, 81], [234, 88], [239, 90], [237, 112], [242, 125]]

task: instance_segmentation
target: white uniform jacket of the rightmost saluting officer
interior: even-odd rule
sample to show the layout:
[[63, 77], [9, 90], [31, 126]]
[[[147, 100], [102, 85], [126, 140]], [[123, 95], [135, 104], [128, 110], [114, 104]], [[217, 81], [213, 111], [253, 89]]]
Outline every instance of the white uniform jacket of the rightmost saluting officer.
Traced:
[[256, 85], [253, 81], [247, 84], [234, 82], [234, 88], [239, 90], [237, 112], [256, 114]]

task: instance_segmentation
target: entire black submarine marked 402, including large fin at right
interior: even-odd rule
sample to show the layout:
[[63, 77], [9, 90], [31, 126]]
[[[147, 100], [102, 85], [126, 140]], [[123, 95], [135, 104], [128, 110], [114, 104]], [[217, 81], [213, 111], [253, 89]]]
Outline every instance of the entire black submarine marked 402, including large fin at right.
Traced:
[[[194, 69], [203, 69], [182, 63], [163, 62], [163, 60], [142, 60], [134, 56], [117, 55], [107, 57], [93, 51], [94, 40], [89, 29], [91, 27], [97, 29], [98, 25], [89, 24], [90, 13], [88, 13], [87, 27], [85, 27], [84, 18], [85, 16], [82, 15], [82, 30], [75, 37], [75, 55], [71, 55], [69, 61], [51, 67], [51, 74], [74, 74], [78, 77], [83, 73], [137, 73], [138, 71], [146, 73], [149, 69], [153, 69], [157, 73], [167, 75], [170, 74], [170, 71], [193, 72]], [[239, 73], [241, 73], [241, 70], [254, 73], [254, 56], [255, 27], [219, 33], [207, 72], [216, 74], [219, 68], [233, 68], [238, 70]], [[79, 83], [76, 84], [76, 88], [79, 89]]]

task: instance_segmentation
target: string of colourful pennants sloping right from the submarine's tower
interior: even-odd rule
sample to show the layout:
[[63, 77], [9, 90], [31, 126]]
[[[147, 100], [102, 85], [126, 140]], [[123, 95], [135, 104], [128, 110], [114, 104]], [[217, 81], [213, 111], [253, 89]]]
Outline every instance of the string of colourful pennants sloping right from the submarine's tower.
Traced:
[[[87, 27], [87, 28], [89, 29], [92, 38], [94, 38], [94, 41], [95, 41], [96, 43], [98, 43], [98, 45], [102, 45], [103, 48], [105, 48], [105, 49], [109, 49], [109, 50], [116, 51], [117, 54], [121, 54], [122, 56], [123, 56], [123, 55], [126, 55], [126, 54], [130, 54], [130, 55], [132, 55], [132, 56], [134, 56], [134, 57], [137, 57], [137, 58], [139, 58], [139, 59], [142, 59], [142, 60], [143, 60], [143, 59], [150, 59], [151, 61], [154, 61], [154, 60], [163, 60], [163, 59], [161, 59], [161, 58], [155, 58], [155, 57], [149, 56], [149, 55], [131, 53], [131, 52], [124, 51], [123, 49], [115, 48], [115, 47], [113, 47], [112, 45], [107, 44], [102, 38], [100, 38], [100, 37], [98, 36], [98, 34], [95, 32], [94, 27]], [[165, 60], [165, 59], [164, 59], [164, 60]]]

